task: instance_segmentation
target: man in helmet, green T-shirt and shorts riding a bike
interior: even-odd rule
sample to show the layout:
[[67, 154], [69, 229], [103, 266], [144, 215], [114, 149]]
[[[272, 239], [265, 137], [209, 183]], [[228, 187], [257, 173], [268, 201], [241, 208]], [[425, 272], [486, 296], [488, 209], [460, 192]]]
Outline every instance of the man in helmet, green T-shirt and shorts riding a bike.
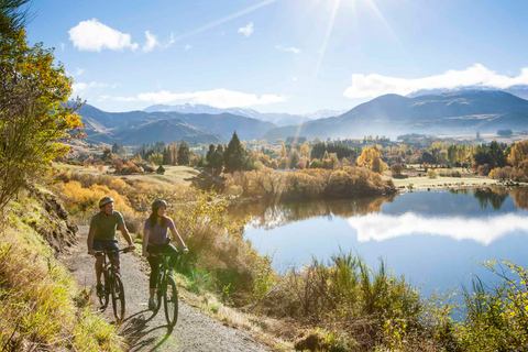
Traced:
[[[116, 239], [116, 230], [119, 229], [123, 234], [129, 249], [134, 250], [135, 245], [129, 234], [129, 230], [124, 224], [123, 216], [119, 211], [113, 210], [113, 199], [111, 197], [103, 197], [99, 200], [100, 211], [91, 218], [90, 231], [88, 232], [88, 254], [95, 255], [102, 251], [119, 251], [118, 240]], [[120, 267], [119, 253], [109, 255], [109, 258]], [[103, 294], [101, 284], [102, 275], [102, 256], [96, 257], [96, 278], [97, 278], [97, 295]]]

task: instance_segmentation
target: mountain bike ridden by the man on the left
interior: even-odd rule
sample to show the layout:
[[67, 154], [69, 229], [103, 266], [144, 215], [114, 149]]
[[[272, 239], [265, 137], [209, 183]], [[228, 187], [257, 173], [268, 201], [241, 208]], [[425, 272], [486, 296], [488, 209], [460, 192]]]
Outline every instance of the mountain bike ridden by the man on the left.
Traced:
[[108, 261], [107, 256], [112, 253], [129, 252], [129, 249], [119, 251], [98, 251], [96, 256], [102, 256], [102, 295], [97, 295], [99, 302], [101, 304], [101, 311], [105, 311], [108, 307], [109, 297], [112, 297], [113, 316], [116, 317], [116, 323], [121, 323], [124, 318], [124, 287], [119, 268], [116, 266], [114, 261]]

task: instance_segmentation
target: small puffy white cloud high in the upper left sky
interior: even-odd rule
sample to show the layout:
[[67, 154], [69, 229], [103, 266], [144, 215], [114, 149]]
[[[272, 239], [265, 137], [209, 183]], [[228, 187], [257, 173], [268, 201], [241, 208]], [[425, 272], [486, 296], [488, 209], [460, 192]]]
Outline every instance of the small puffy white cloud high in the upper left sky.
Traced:
[[138, 50], [138, 44], [131, 42], [130, 34], [121, 33], [97, 21], [81, 21], [69, 31], [69, 40], [79, 51], [101, 52], [102, 50], [120, 51]]

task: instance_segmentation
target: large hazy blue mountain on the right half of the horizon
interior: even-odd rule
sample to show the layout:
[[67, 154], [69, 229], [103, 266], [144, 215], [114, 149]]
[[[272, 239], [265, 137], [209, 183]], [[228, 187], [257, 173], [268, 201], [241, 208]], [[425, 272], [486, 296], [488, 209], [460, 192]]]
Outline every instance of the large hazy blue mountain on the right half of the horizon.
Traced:
[[528, 101], [498, 90], [465, 90], [418, 97], [385, 95], [333, 118], [314, 120], [299, 128], [282, 127], [266, 133], [268, 141], [288, 135], [314, 139], [362, 138], [419, 132], [462, 134], [528, 129]]

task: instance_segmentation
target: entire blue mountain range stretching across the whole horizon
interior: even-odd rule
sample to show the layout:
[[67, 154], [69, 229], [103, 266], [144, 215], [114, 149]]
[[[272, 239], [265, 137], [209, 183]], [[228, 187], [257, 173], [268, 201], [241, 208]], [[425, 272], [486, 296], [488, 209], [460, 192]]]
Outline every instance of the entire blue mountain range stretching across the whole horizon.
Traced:
[[[496, 133], [503, 129], [528, 130], [528, 100], [498, 90], [460, 90], [416, 97], [385, 95], [344, 113], [320, 111], [321, 118], [302, 123], [299, 123], [301, 116], [199, 105], [152, 106], [144, 111], [130, 112], [106, 112], [85, 105], [79, 114], [86, 123], [88, 141], [124, 145], [183, 139], [220, 143], [229, 141], [234, 131], [241, 140], [265, 138], [275, 141], [294, 135], [309, 140], [316, 136], [361, 139], [369, 134], [395, 138], [411, 132], [469, 134], [476, 131]], [[296, 122], [279, 127], [267, 121], [284, 116]]]

